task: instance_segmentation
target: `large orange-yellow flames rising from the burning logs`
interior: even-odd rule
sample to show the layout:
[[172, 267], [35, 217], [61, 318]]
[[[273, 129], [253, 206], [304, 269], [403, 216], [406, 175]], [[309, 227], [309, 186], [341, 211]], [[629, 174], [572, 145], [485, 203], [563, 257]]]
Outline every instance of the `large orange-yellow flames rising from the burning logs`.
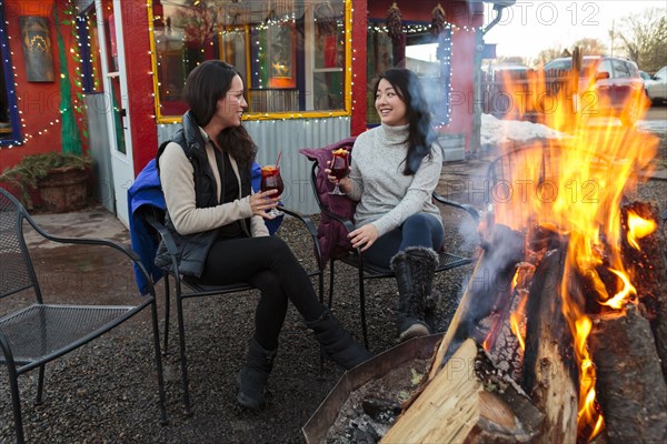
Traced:
[[[573, 80], [568, 81], [571, 85]], [[505, 88], [516, 99], [519, 115], [537, 110], [549, 127], [567, 130], [559, 140], [525, 151], [525, 158], [511, 165], [511, 181], [492, 184], [491, 198], [497, 223], [525, 233], [536, 225], [549, 225], [568, 240], [560, 295], [580, 377], [578, 440], [589, 442], [604, 428], [604, 418], [596, 402], [596, 370], [587, 347], [591, 321], [585, 312], [586, 302], [594, 297], [605, 310], [619, 311], [636, 302], [633, 297], [637, 292], [621, 256], [620, 204], [624, 193], [637, 185], [638, 172], [648, 176], [657, 140], [621, 127], [614, 117], [603, 125], [589, 124], [596, 117], [590, 111], [601, 108], [587, 109], [574, 95], [566, 97], [567, 88], [556, 91], [558, 88], [539, 71], [529, 73], [527, 82], [509, 81]], [[596, 105], [608, 108], [594, 89], [580, 91], [580, 97], [594, 98]], [[628, 97], [620, 112], [639, 107], [644, 113], [646, 105], [641, 97]], [[651, 233], [656, 223], [629, 214], [627, 226], [627, 241], [639, 249], [637, 239]], [[577, 276], [584, 276], [597, 294], [584, 294], [573, 285]], [[610, 278], [616, 282], [609, 282]]]

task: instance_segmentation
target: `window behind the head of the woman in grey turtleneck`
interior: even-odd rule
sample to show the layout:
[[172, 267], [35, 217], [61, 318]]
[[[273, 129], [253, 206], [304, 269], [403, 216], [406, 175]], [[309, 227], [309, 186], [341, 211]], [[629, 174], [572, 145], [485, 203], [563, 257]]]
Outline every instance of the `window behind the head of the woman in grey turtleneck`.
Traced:
[[[380, 123], [375, 110], [375, 91], [377, 77], [382, 71], [398, 64], [394, 46], [389, 38], [385, 20], [369, 20], [367, 32], [367, 118], [369, 127]], [[451, 29], [445, 29], [434, 36], [428, 23], [405, 23], [406, 48], [401, 60], [405, 67], [417, 73], [428, 93], [429, 108], [434, 115], [434, 125], [449, 123], [450, 85], [451, 85]]]

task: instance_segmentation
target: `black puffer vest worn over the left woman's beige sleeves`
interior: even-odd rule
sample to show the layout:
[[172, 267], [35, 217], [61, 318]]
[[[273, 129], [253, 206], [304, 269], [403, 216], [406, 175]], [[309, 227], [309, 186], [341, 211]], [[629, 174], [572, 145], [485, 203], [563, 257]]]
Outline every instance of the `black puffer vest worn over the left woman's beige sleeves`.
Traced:
[[[160, 145], [156, 158], [156, 164], [158, 167], [160, 164], [160, 155], [169, 142], [178, 143], [192, 164], [192, 169], [195, 170], [195, 204], [197, 208], [218, 205], [218, 189], [213, 171], [211, 170], [211, 165], [206, 155], [206, 141], [201, 137], [199, 127], [190, 115], [189, 111], [182, 117], [181, 129], [173, 134], [170, 141]], [[241, 175], [241, 196], [249, 195], [251, 189], [250, 171], [249, 169], [239, 169], [239, 174]], [[221, 178], [221, 180], [225, 179]], [[165, 226], [169, 230], [176, 242], [178, 249], [177, 261], [180, 273], [187, 276], [200, 278], [209, 250], [218, 238], [218, 230], [193, 234], [179, 234], [173, 226], [169, 212], [165, 215]], [[247, 219], [242, 221], [241, 226], [246, 234], [250, 236], [250, 220]], [[163, 242], [160, 242], [158, 245], [155, 262], [157, 266], [163, 270], [173, 271], [171, 258], [169, 256], [167, 246]]]

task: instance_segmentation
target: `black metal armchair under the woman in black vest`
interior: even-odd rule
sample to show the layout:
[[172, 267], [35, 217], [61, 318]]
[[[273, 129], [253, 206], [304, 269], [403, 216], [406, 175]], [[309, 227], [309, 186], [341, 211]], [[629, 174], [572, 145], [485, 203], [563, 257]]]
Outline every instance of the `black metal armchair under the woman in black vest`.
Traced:
[[[280, 210], [286, 214], [296, 218], [299, 220], [306, 229], [308, 233], [312, 238], [313, 242], [313, 254], [316, 263], [319, 263], [319, 245], [317, 243], [317, 229], [315, 224], [310, 220], [310, 218], [306, 215], [301, 215], [291, 210], [285, 209], [280, 206]], [[169, 272], [165, 274], [165, 353], [168, 350], [168, 339], [169, 339], [169, 295], [170, 295], [170, 276], [173, 278], [175, 289], [176, 289], [176, 310], [178, 317], [178, 335], [179, 335], [179, 350], [180, 350], [180, 362], [181, 362], [181, 384], [183, 390], [183, 406], [186, 415], [191, 415], [191, 405], [190, 405], [190, 391], [189, 391], [189, 379], [188, 379], [188, 362], [187, 362], [187, 353], [186, 353], [186, 329], [185, 329], [185, 319], [183, 319], [183, 300], [190, 297], [202, 297], [202, 296], [213, 296], [213, 295], [223, 295], [230, 293], [238, 293], [243, 291], [256, 290], [253, 286], [245, 283], [237, 282], [228, 285], [202, 285], [198, 283], [193, 283], [183, 279], [180, 272], [178, 271], [178, 261], [177, 261], [177, 248], [171, 236], [171, 233], [165, 226], [165, 211], [152, 205], [143, 205], [140, 208], [141, 216], [146, 220], [146, 222], [152, 226], [155, 230], [155, 234], [159, 235], [159, 238], [165, 242], [167, 246], [167, 251], [171, 256], [171, 264], [175, 272]], [[137, 214], [137, 213], [136, 213]], [[317, 276], [319, 284], [319, 299], [320, 302], [323, 302], [323, 273], [321, 270], [316, 269], [313, 271], [307, 271], [309, 276]]]

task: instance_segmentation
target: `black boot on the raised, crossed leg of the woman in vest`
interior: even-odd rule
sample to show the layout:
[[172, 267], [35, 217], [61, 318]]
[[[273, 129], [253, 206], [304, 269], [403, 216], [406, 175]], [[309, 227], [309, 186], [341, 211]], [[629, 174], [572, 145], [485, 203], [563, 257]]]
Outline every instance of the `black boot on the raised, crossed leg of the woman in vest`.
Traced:
[[325, 310], [317, 320], [306, 321], [306, 325], [315, 332], [315, 337], [322, 345], [325, 353], [346, 370], [354, 369], [372, 357], [372, 354], [359, 345], [328, 310]]

